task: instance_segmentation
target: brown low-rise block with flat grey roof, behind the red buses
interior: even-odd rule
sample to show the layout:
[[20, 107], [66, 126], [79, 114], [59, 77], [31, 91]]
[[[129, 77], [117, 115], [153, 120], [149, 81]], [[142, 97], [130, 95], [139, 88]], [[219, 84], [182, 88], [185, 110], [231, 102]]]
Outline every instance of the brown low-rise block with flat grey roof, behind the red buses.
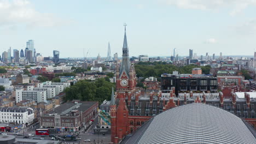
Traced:
[[97, 101], [69, 101], [40, 117], [40, 127], [78, 131], [95, 117], [97, 107]]

